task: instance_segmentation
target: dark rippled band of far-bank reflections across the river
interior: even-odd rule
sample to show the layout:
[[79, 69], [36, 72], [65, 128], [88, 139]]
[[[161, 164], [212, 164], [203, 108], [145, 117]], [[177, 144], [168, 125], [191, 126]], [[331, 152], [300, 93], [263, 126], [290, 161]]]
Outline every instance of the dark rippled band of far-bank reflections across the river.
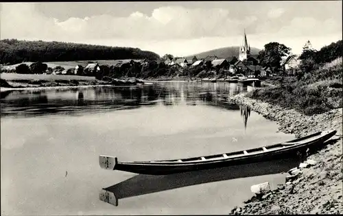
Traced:
[[246, 91], [246, 87], [237, 83], [154, 83], [130, 87], [1, 92], [1, 116], [70, 115], [158, 104], [202, 104], [237, 109], [237, 106], [227, 106], [221, 98]]

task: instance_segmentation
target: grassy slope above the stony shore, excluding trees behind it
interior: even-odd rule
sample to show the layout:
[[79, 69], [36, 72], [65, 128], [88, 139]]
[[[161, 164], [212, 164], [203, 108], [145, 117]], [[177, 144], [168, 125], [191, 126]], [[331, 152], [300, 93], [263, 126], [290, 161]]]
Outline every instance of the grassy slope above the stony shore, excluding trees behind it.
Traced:
[[342, 58], [306, 74], [297, 81], [294, 77], [281, 79], [277, 87], [265, 87], [248, 92], [247, 96], [281, 107], [296, 109], [307, 116], [342, 108]]

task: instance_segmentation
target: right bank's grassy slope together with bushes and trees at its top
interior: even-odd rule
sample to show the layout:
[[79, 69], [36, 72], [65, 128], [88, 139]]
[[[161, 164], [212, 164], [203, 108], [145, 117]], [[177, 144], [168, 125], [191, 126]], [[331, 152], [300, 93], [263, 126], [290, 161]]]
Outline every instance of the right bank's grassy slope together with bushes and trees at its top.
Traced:
[[257, 89], [247, 96], [308, 116], [342, 108], [342, 40], [320, 51], [304, 51], [300, 59], [296, 77], [276, 78], [278, 86]]

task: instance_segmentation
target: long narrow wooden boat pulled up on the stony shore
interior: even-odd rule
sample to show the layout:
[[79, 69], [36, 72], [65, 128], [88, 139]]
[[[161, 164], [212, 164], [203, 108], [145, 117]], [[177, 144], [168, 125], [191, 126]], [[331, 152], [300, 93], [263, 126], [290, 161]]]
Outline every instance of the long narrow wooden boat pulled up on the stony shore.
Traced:
[[100, 167], [106, 170], [121, 170], [137, 174], [165, 175], [196, 170], [207, 170], [217, 167], [258, 163], [274, 159], [296, 157], [298, 152], [305, 152], [307, 148], [322, 144], [335, 135], [336, 131], [322, 131], [270, 146], [252, 148], [225, 154], [215, 154], [187, 159], [165, 161], [133, 161], [121, 162], [117, 157], [99, 156]]

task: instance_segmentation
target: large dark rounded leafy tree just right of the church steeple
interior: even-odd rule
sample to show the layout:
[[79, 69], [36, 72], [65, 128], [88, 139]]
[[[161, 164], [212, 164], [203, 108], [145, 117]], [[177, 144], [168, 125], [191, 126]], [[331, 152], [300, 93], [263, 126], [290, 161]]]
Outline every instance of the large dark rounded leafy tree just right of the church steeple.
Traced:
[[261, 66], [270, 66], [273, 72], [281, 69], [281, 57], [289, 55], [291, 49], [278, 42], [270, 42], [264, 45], [264, 49], [259, 52], [259, 62]]

